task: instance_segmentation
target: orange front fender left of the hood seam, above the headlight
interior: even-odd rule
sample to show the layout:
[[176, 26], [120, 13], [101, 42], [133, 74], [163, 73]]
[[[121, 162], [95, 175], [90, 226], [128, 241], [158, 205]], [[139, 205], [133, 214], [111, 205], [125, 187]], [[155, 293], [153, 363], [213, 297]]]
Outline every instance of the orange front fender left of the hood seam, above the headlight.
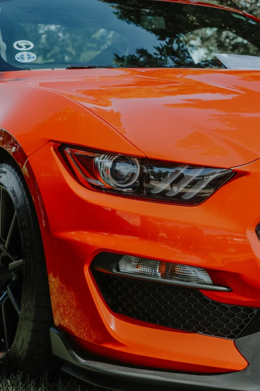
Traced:
[[[42, 71], [33, 73], [37, 77]], [[28, 71], [2, 72], [0, 79], [0, 128], [22, 145], [26, 156], [51, 140], [93, 148], [100, 144], [100, 149], [122, 149], [122, 153], [144, 156], [104, 120], [69, 98], [37, 88], [36, 82], [26, 79], [27, 74]], [[13, 79], [5, 83], [5, 76], [14, 77], [15, 82], [16, 77], [24, 77], [25, 85], [17, 86]], [[13, 112], [15, 115], [10, 114]], [[4, 140], [0, 144], [5, 147]]]

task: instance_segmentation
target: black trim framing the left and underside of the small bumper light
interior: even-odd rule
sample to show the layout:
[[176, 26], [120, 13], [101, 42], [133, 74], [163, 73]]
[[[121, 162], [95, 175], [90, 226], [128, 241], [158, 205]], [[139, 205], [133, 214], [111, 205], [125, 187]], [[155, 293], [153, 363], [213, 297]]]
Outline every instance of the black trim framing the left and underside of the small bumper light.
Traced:
[[134, 280], [150, 281], [158, 284], [174, 285], [183, 288], [193, 288], [203, 291], [232, 292], [231, 288], [223, 287], [221, 285], [197, 284], [179, 280], [164, 280], [155, 277], [138, 276], [130, 273], [118, 272], [116, 269], [117, 262], [120, 261], [123, 256], [124, 254], [119, 255], [107, 252], [99, 253], [92, 261], [91, 270], [113, 274], [115, 276], [128, 277]]

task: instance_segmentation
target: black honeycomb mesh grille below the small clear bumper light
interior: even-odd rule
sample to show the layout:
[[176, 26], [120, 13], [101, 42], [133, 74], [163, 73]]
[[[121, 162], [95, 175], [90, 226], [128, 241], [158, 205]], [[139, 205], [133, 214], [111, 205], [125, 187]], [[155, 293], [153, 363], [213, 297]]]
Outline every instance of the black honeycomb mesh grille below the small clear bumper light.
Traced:
[[155, 325], [234, 340], [258, 312], [215, 302], [200, 291], [95, 272], [109, 307]]

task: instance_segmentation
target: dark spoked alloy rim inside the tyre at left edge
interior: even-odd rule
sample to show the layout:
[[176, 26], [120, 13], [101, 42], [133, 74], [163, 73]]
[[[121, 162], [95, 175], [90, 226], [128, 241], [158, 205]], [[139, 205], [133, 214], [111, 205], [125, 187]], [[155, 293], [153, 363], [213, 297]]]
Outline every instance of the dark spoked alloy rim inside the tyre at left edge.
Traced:
[[0, 186], [0, 359], [11, 348], [21, 309], [22, 248], [17, 212]]

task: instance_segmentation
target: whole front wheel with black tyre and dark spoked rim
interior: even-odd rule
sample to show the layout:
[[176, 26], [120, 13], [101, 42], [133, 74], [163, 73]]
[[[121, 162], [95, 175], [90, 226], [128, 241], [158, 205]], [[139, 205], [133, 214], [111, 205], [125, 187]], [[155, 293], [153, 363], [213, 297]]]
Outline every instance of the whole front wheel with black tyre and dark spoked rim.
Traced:
[[51, 360], [53, 325], [39, 223], [20, 169], [0, 164], [0, 368], [36, 377]]

